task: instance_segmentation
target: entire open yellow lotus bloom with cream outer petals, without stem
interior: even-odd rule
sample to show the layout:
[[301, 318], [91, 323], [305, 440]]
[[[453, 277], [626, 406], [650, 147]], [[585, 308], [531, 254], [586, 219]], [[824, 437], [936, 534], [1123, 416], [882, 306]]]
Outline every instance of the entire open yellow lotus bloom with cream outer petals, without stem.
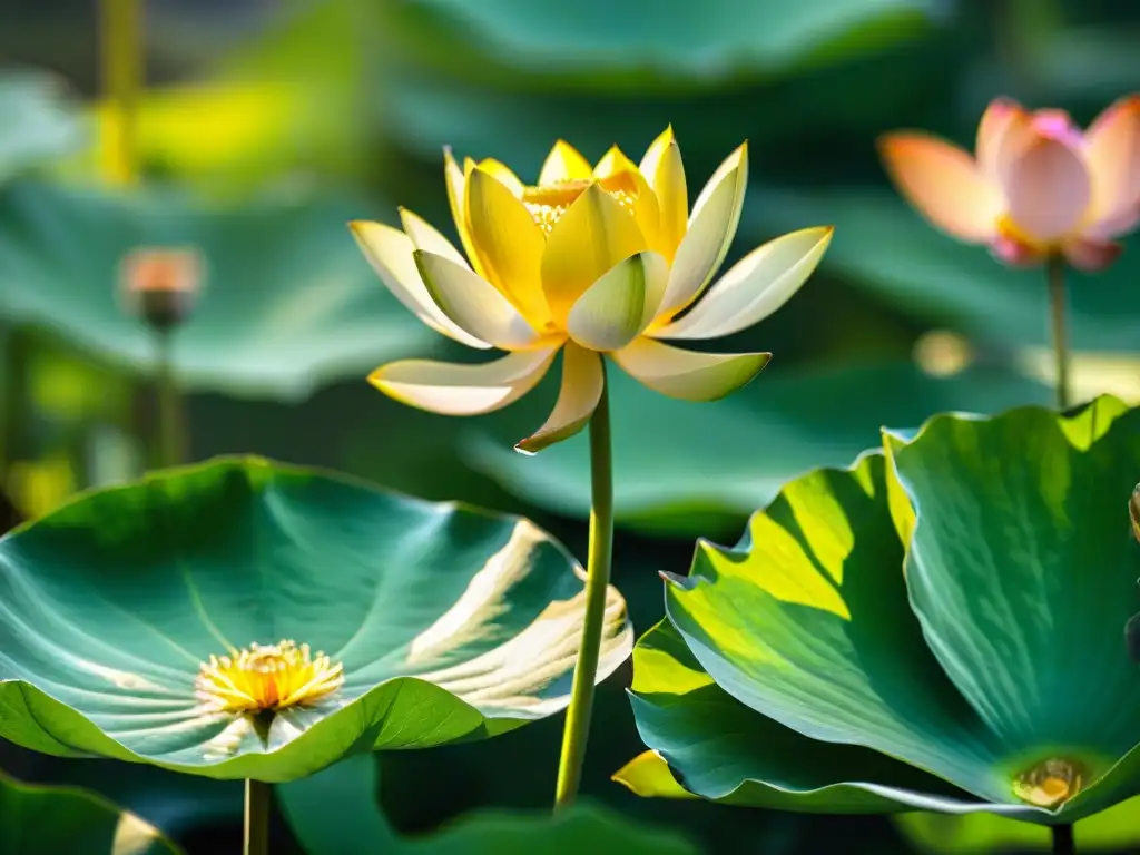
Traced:
[[404, 231], [361, 221], [351, 228], [380, 277], [425, 324], [508, 355], [481, 365], [397, 361], [369, 380], [421, 409], [477, 415], [530, 391], [563, 350], [559, 400], [516, 446], [523, 451], [585, 426], [602, 396], [603, 355], [649, 388], [685, 400], [714, 400], [747, 383], [768, 353], [700, 353], [661, 340], [714, 339], [767, 317], [807, 279], [831, 239], [830, 227], [776, 238], [705, 293], [740, 220], [746, 146], [720, 164], [692, 213], [671, 129], [640, 165], [614, 147], [591, 168], [560, 140], [537, 186], [495, 160], [469, 158], [463, 169], [450, 152], [445, 160], [466, 259], [410, 211], [400, 211]]

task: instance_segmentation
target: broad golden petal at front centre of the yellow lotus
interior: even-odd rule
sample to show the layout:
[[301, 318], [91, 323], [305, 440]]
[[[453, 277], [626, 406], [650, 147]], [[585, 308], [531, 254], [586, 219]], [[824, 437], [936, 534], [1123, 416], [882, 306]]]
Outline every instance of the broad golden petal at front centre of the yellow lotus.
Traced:
[[554, 223], [543, 252], [543, 292], [555, 323], [563, 326], [586, 288], [645, 249], [633, 214], [598, 185], [591, 185]]

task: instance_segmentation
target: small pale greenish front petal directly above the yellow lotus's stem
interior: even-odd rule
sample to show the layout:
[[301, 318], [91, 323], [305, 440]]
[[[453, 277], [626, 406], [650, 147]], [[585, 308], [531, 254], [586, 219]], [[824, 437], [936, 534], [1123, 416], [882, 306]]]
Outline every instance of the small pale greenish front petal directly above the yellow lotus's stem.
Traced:
[[573, 304], [567, 320], [570, 337], [591, 350], [626, 347], [652, 320], [646, 304], [654, 294], [660, 300], [668, 277], [668, 262], [656, 252], [619, 261]]

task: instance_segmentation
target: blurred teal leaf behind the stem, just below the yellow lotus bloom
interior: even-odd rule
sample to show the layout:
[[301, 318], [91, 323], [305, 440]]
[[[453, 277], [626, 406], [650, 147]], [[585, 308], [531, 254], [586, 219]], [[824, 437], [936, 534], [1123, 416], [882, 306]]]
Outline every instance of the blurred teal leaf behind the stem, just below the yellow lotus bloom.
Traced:
[[[1052, 397], [1045, 386], [1009, 373], [970, 369], [935, 378], [906, 363], [772, 369], [712, 404], [666, 398], [617, 367], [609, 377], [618, 522], [675, 536], [734, 529], [788, 480], [814, 466], [845, 465], [877, 445], [885, 424], [918, 425], [938, 412], [990, 413]], [[461, 453], [527, 502], [586, 518], [588, 438], [535, 457], [520, 455], [513, 443], [532, 418], [527, 407], [524, 399], [519, 415], [504, 410], [500, 429]]]

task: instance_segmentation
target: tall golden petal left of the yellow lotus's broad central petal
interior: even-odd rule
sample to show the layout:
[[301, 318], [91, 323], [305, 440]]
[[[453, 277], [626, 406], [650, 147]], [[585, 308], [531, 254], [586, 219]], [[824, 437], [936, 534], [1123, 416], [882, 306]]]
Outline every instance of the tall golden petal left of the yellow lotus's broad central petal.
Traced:
[[542, 329], [551, 312], [543, 296], [542, 229], [526, 205], [495, 177], [473, 169], [466, 187], [467, 222], [483, 278]]

